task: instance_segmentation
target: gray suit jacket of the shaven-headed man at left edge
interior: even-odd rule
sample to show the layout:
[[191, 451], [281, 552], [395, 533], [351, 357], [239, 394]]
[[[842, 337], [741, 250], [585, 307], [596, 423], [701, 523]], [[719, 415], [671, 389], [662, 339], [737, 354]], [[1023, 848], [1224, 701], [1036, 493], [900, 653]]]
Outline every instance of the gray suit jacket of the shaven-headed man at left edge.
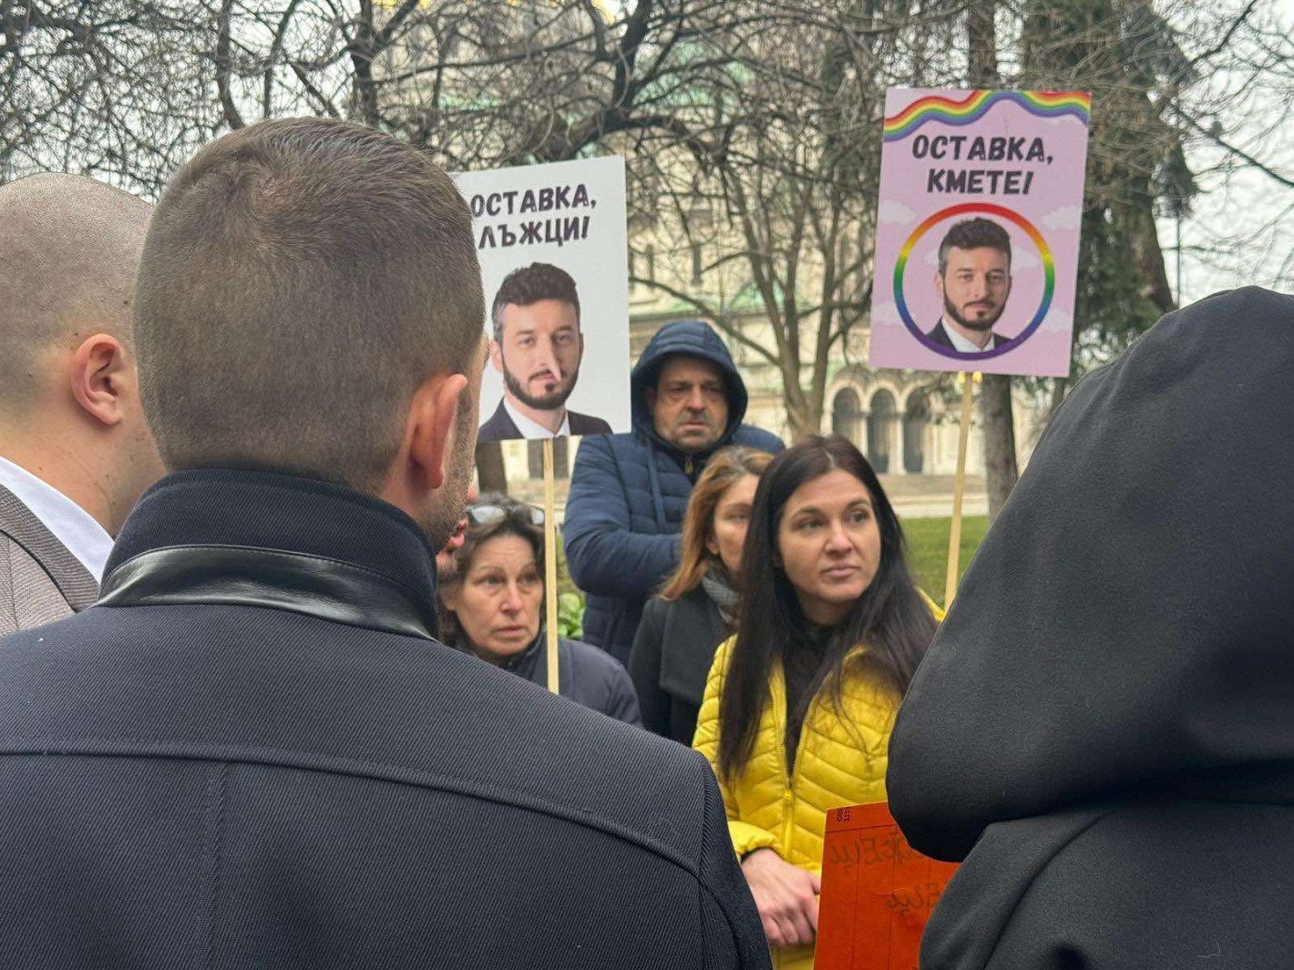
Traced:
[[91, 572], [0, 488], [0, 636], [79, 613], [96, 599]]

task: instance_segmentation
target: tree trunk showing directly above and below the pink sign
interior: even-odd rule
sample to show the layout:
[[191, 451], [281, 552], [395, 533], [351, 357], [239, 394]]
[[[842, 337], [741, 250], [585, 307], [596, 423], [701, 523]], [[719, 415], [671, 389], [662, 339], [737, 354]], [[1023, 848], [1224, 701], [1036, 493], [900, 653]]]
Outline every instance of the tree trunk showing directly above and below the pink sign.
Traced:
[[[998, 32], [994, 23], [998, 5], [989, 0], [970, 4], [967, 10], [967, 40], [970, 48], [969, 80], [977, 88], [998, 84]], [[989, 521], [998, 517], [1016, 486], [1016, 423], [1011, 409], [1011, 376], [985, 374], [980, 385], [980, 414], [983, 419], [983, 475], [989, 488]]]

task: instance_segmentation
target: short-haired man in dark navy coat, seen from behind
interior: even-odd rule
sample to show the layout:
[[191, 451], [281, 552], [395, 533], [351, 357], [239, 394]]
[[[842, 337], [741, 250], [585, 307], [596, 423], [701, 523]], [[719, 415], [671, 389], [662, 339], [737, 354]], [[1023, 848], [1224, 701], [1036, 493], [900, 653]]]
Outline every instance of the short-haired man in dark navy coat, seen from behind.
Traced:
[[6, 967], [767, 966], [704, 762], [435, 639], [484, 301], [426, 155], [198, 153], [138, 274], [171, 472], [0, 641]]

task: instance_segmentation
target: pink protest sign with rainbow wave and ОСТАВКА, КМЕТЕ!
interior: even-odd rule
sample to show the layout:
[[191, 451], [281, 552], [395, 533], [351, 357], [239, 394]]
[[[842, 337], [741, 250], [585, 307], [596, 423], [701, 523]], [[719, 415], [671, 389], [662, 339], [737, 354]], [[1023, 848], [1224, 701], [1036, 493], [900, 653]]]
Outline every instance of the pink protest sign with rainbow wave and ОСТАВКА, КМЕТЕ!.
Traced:
[[876, 367], [1069, 374], [1091, 96], [885, 96]]

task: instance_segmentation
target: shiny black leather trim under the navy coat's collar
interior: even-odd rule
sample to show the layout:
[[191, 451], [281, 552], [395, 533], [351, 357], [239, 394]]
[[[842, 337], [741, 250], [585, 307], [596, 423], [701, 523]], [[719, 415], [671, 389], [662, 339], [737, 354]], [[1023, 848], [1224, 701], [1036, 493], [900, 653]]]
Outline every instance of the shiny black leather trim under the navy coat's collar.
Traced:
[[265, 607], [436, 639], [433, 595], [353, 563], [250, 546], [170, 546], [122, 563], [104, 579], [98, 607], [217, 603]]

